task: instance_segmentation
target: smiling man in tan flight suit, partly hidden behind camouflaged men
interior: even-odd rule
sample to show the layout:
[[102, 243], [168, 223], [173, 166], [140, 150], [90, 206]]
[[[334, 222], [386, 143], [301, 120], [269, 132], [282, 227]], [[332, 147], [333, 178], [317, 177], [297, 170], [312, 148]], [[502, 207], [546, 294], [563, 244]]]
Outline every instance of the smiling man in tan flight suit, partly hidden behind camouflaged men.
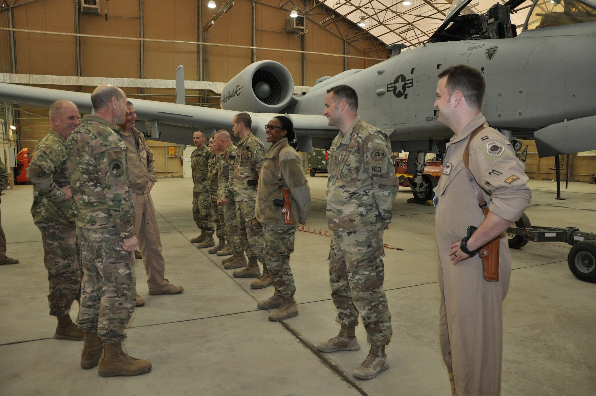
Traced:
[[[145, 143], [143, 134], [135, 129], [135, 107], [130, 101], [126, 102], [126, 106], [128, 108], [126, 121], [120, 125], [119, 135], [128, 149], [126, 165], [135, 206], [132, 222], [135, 236], [139, 240], [143, 264], [145, 264], [149, 294], [152, 296], [177, 294], [182, 292], [184, 287], [176, 286], [164, 279], [166, 264], [162, 256], [162, 239], [159, 235], [153, 199], [151, 199], [151, 188], [156, 180], [153, 150]], [[144, 304], [145, 299], [136, 293], [136, 307]]]

